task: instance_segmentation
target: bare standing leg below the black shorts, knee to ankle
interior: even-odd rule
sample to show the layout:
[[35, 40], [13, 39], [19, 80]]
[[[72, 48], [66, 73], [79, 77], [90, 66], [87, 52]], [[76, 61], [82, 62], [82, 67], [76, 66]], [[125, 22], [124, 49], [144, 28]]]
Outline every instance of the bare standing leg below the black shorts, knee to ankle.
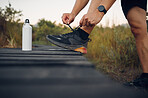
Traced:
[[143, 72], [148, 73], [148, 34], [146, 12], [139, 7], [134, 7], [128, 12], [127, 19], [136, 40], [137, 52], [142, 64]]

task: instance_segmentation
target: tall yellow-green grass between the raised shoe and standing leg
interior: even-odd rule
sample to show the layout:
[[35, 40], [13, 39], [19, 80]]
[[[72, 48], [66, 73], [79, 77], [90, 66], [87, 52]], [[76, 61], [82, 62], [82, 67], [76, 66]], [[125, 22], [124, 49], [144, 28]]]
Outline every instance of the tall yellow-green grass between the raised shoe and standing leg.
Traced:
[[97, 70], [119, 82], [131, 81], [141, 73], [135, 39], [129, 27], [95, 27], [86, 57]]

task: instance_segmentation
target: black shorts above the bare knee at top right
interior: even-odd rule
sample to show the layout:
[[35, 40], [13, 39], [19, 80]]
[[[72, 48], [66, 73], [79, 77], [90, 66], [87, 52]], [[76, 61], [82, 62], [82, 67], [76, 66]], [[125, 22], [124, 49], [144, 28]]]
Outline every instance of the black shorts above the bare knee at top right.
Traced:
[[137, 6], [146, 11], [147, 9], [147, 0], [121, 0], [121, 6], [125, 17], [127, 17], [128, 11]]

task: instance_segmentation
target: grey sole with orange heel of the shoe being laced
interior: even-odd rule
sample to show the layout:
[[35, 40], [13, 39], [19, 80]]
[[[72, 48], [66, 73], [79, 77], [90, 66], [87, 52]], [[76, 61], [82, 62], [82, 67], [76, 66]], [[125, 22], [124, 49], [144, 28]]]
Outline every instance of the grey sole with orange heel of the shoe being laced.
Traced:
[[[66, 48], [66, 49], [73, 50], [73, 51], [77, 51], [77, 49], [81, 49], [81, 47], [83, 47], [83, 49], [85, 48], [85, 47], [82, 46], [82, 45], [66, 45], [66, 44], [63, 44], [63, 43], [56, 42], [56, 41], [54, 41], [54, 40], [52, 40], [52, 39], [49, 39], [49, 38], [48, 38], [48, 35], [46, 36], [46, 39], [47, 39], [48, 41], [50, 41], [52, 44], [55, 44], [55, 45], [57, 45], [57, 46], [59, 46], [59, 47]], [[85, 49], [86, 49], [86, 48], [85, 48]], [[79, 52], [81, 52], [81, 51], [79, 51]], [[82, 53], [82, 52], [81, 52], [81, 53]]]

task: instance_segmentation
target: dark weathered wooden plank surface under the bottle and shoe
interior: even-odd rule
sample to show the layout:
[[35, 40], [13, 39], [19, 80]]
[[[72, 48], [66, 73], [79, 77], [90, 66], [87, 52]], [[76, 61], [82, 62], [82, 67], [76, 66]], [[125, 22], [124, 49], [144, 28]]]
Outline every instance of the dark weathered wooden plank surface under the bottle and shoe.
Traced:
[[94, 69], [78, 52], [36, 46], [0, 49], [0, 98], [148, 98]]

